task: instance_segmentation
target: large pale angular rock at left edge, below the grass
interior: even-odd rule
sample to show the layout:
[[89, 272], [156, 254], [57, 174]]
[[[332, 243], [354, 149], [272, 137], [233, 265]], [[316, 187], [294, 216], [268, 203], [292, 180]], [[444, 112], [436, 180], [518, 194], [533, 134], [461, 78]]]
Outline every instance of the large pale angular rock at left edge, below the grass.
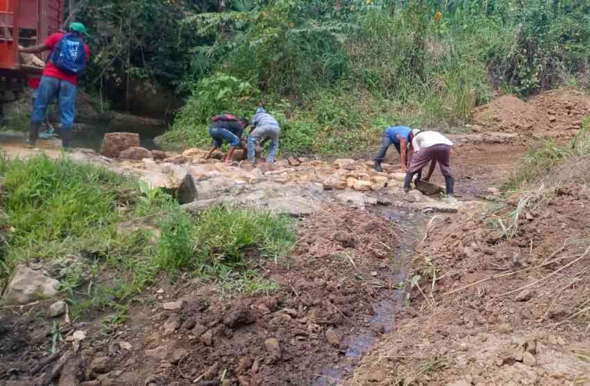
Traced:
[[3, 301], [7, 305], [18, 305], [49, 299], [58, 294], [59, 287], [58, 280], [33, 271], [26, 265], [19, 265], [8, 284]]

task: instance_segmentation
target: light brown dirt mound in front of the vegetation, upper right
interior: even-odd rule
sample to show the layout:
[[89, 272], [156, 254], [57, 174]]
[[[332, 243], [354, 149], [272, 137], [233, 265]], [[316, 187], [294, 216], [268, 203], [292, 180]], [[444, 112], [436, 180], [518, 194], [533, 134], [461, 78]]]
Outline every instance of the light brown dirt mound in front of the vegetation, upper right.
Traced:
[[476, 130], [503, 133], [561, 133], [579, 129], [590, 114], [590, 96], [578, 90], [543, 92], [529, 102], [505, 95], [475, 109]]

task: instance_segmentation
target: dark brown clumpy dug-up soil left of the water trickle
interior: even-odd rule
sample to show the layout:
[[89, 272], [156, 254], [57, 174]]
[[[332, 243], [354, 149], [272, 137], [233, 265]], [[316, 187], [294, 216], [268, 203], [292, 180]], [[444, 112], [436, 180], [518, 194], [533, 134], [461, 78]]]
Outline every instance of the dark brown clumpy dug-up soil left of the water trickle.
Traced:
[[[121, 386], [311, 385], [323, 369], [350, 365], [344, 356], [351, 338], [382, 332], [371, 319], [399, 283], [397, 232], [381, 217], [344, 206], [327, 206], [302, 220], [299, 229], [288, 258], [260, 262], [264, 278], [278, 284], [276, 292], [243, 296], [196, 279], [162, 281], [147, 291], [151, 295], [135, 299], [139, 305], [120, 330], [105, 334], [101, 319], [67, 330], [65, 335], [87, 335], [79, 351], [85, 362], [81, 380]], [[27, 378], [28, 370], [42, 357], [36, 346], [48, 349], [49, 330], [36, 331], [33, 340], [33, 326], [39, 325], [20, 319], [15, 340], [8, 333], [12, 327], [5, 326], [9, 321], [1, 322], [0, 353], [11, 356], [3, 356], [8, 360], [0, 378], [24, 382], [10, 385], [33, 384], [40, 375]]]

